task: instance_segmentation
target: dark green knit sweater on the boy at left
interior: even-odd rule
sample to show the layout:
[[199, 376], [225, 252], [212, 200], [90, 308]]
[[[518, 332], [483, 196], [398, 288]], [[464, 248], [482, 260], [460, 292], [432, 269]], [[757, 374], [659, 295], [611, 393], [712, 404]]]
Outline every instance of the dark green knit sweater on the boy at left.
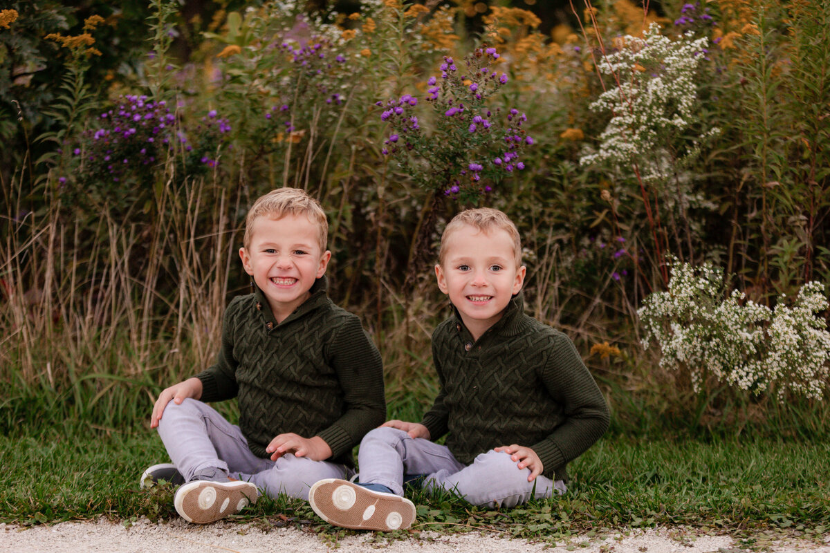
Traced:
[[233, 298], [216, 362], [197, 375], [203, 401], [239, 398], [239, 427], [251, 452], [268, 457], [277, 434], [320, 436], [330, 460], [386, 419], [383, 365], [359, 318], [326, 295], [325, 276], [281, 323], [261, 292]]

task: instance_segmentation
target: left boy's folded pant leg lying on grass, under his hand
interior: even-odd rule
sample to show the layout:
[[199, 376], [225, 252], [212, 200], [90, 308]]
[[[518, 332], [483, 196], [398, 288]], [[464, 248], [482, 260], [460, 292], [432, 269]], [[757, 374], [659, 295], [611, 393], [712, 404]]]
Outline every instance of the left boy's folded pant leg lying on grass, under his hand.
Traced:
[[308, 501], [309, 488], [324, 478], [346, 478], [347, 468], [339, 463], [329, 461], [312, 461], [310, 458], [295, 457], [285, 454], [275, 461], [266, 459], [270, 467], [256, 473], [239, 473], [239, 478], [256, 485], [267, 496], [276, 497], [285, 493], [289, 497], [299, 497]]

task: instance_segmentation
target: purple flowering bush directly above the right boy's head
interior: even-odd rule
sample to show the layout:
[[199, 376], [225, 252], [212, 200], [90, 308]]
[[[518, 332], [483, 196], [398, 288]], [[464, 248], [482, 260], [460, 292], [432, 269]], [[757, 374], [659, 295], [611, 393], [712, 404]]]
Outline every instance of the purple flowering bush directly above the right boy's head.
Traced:
[[440, 78], [427, 80], [426, 100], [434, 112], [434, 129], [428, 135], [418, 120], [413, 95], [378, 102], [385, 108], [380, 117], [391, 129], [383, 154], [423, 187], [461, 201], [474, 202], [491, 192], [491, 185], [523, 170], [521, 152], [533, 143], [522, 129], [527, 116], [515, 108], [487, 104], [508, 80], [494, 69], [499, 58], [496, 48], [486, 46], [466, 56], [461, 68], [444, 56]]

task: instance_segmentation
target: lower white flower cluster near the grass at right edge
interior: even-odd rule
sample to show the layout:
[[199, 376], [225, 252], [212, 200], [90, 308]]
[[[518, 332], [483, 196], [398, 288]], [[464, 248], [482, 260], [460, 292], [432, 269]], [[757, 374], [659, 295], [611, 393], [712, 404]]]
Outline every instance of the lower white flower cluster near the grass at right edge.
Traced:
[[828, 308], [824, 285], [809, 282], [792, 306], [770, 309], [734, 290], [721, 300], [723, 274], [711, 264], [672, 264], [666, 292], [652, 293], [637, 311], [642, 346], [657, 342], [660, 366], [686, 367], [700, 391], [707, 377], [758, 395], [775, 391], [822, 399], [830, 375], [830, 332], [814, 313]]

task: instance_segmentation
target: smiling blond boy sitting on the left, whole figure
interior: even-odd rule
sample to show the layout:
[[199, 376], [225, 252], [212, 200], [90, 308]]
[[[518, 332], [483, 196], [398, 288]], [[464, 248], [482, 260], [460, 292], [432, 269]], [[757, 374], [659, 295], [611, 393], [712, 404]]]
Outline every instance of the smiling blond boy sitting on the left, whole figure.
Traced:
[[[380, 354], [326, 295], [328, 227], [302, 190], [256, 200], [239, 250], [254, 291], [227, 306], [216, 362], [159, 394], [150, 427], [173, 463], [141, 484], [182, 483], [173, 502], [188, 521], [236, 513], [257, 488], [307, 499], [321, 478], [347, 476], [354, 445], [386, 418]], [[206, 403], [233, 397], [238, 426]]]

